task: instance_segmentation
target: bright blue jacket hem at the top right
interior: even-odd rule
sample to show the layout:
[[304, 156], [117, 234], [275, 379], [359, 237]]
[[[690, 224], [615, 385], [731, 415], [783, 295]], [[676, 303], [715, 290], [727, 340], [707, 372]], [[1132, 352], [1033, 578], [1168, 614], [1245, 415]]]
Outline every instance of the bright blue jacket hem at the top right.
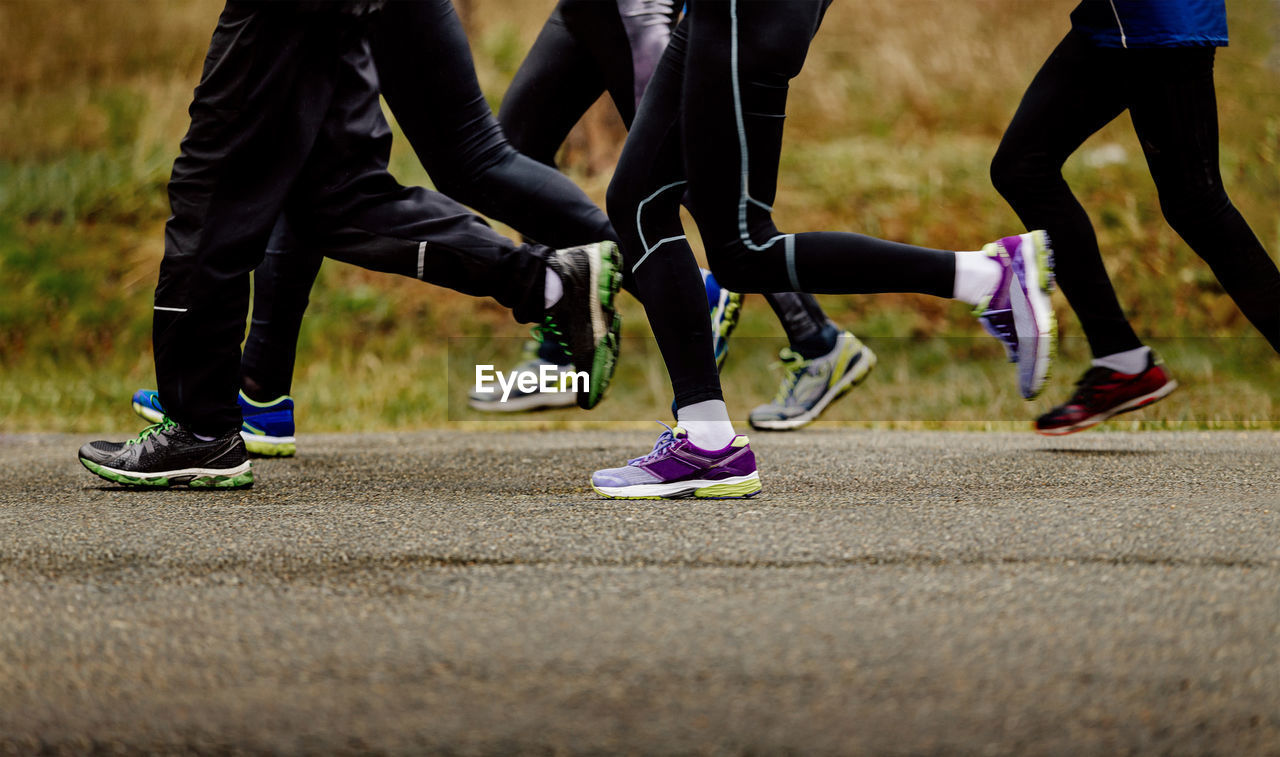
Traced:
[[1100, 47], [1225, 47], [1226, 0], [1083, 0], [1071, 27]]

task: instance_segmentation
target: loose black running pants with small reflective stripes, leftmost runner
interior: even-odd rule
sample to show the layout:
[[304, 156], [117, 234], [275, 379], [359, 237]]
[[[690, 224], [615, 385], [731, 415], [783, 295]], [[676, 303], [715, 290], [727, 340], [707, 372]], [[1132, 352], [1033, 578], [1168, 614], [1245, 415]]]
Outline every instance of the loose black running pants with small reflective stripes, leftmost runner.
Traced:
[[169, 182], [154, 319], [161, 401], [197, 433], [239, 425], [248, 274], [282, 213], [319, 254], [543, 315], [545, 247], [387, 173], [364, 31], [284, 1], [230, 1], [219, 18]]

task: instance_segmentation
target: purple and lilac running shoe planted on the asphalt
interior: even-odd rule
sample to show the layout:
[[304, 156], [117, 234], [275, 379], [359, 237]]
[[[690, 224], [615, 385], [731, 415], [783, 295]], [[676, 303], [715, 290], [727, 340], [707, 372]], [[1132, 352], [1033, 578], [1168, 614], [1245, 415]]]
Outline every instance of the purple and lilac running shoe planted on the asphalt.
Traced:
[[760, 476], [742, 434], [723, 450], [703, 450], [677, 425], [667, 427], [644, 457], [591, 474], [591, 488], [613, 500], [737, 500], [759, 494]]

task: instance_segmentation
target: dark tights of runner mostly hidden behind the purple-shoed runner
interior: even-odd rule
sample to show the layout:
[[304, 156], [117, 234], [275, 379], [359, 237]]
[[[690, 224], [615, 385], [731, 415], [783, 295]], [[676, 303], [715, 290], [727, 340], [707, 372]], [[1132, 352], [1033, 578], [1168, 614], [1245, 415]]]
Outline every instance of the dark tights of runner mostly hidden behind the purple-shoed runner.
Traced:
[[[522, 154], [554, 165], [556, 152], [573, 124], [605, 91], [630, 128], [636, 90], [643, 90], [653, 76], [659, 60], [654, 49], [659, 41], [664, 47], [680, 5], [559, 0], [498, 109], [498, 120], [511, 143]], [[620, 10], [648, 10], [649, 17], [641, 24], [628, 24]], [[664, 15], [653, 18], [658, 10]], [[659, 20], [666, 20], [666, 26], [655, 26]], [[627, 283], [631, 284], [630, 277]], [[792, 346], [813, 339], [829, 323], [810, 295], [767, 293], [765, 298]], [[543, 345], [540, 355], [562, 361], [552, 342]]]

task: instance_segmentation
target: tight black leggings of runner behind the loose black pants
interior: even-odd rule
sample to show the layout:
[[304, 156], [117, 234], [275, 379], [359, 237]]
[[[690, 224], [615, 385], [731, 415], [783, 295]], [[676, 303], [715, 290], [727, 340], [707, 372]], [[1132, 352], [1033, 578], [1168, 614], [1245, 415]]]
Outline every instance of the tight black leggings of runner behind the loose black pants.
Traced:
[[[616, 238], [608, 218], [573, 182], [506, 140], [449, 0], [388, 3], [372, 22], [371, 47], [381, 92], [442, 193], [550, 247]], [[372, 102], [367, 118], [381, 119], [375, 110]], [[253, 320], [241, 361], [243, 383], [260, 396], [291, 391], [302, 314], [320, 263], [298, 248], [287, 224], [278, 225], [255, 273]]]

